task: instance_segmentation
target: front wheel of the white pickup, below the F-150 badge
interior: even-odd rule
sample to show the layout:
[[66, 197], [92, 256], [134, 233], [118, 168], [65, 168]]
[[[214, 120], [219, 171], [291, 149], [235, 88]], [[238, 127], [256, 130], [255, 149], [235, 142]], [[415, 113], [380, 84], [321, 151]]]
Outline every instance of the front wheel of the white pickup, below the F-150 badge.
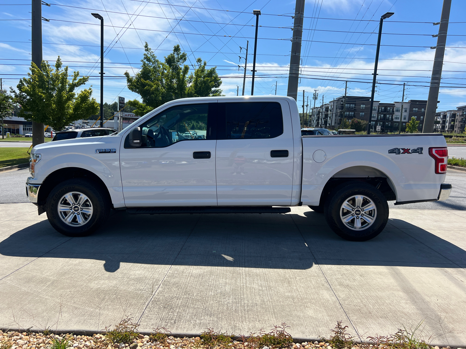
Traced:
[[[76, 202], [69, 204], [65, 198], [65, 195], [68, 194], [71, 194], [70, 200]], [[81, 203], [77, 202], [83, 198], [87, 200], [84, 200], [80, 206]], [[58, 211], [59, 204], [61, 208], [69, 205], [70, 210], [60, 213]], [[48, 195], [46, 207], [47, 218], [52, 227], [59, 233], [72, 237], [92, 234], [110, 215], [110, 202], [103, 188], [94, 182], [82, 179], [70, 179], [59, 183]], [[83, 210], [90, 212], [90, 214], [82, 212]], [[67, 217], [62, 219], [62, 216], [65, 215]], [[68, 217], [70, 217], [70, 221], [67, 224], [64, 219]], [[79, 217], [81, 217], [80, 221], [78, 221]]]

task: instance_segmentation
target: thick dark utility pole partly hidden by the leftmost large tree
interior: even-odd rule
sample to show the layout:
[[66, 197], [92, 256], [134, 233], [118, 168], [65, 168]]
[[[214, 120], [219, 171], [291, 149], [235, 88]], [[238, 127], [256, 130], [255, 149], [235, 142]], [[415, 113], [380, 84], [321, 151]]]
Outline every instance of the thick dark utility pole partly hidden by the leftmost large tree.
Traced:
[[[31, 54], [32, 61], [41, 69], [42, 64], [42, 1], [32, 0], [31, 18]], [[44, 124], [32, 122], [32, 146], [33, 148], [45, 142]]]

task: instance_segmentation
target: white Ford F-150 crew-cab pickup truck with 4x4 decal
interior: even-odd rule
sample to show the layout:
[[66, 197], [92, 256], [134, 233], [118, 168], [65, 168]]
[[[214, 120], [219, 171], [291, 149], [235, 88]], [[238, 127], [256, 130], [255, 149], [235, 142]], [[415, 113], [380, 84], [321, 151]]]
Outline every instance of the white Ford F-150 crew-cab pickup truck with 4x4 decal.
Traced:
[[342, 238], [365, 241], [387, 224], [387, 201], [447, 199], [446, 163], [442, 134], [302, 136], [292, 98], [191, 98], [114, 134], [35, 146], [26, 192], [68, 236], [92, 233], [110, 209], [287, 213], [306, 205]]

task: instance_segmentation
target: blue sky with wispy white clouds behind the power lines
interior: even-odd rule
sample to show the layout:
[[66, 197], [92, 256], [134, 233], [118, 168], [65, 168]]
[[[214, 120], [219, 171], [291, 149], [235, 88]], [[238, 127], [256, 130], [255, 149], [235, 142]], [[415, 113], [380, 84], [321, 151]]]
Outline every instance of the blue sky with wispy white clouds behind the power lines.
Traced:
[[[30, 64], [28, 3], [0, 0], [4, 88], [15, 87]], [[274, 94], [276, 83], [277, 94], [286, 95], [294, 7], [294, 0], [53, 0], [50, 7], [42, 6], [42, 16], [50, 20], [42, 21], [43, 57], [54, 63], [60, 55], [70, 70], [90, 75], [89, 85], [99, 101], [100, 22], [90, 14], [98, 12], [108, 25], [104, 45], [110, 46], [105, 52], [104, 101], [117, 101], [119, 95], [126, 100], [139, 97], [126, 88], [123, 73], [137, 73], [145, 41], [161, 60], [179, 43], [188, 54], [187, 64], [201, 57], [208, 66], [216, 66], [224, 94], [236, 95], [237, 86], [241, 94], [243, 84], [242, 68], [238, 71], [238, 64], [244, 64], [239, 62], [239, 56], [244, 57], [240, 46], [246, 47], [249, 40], [246, 94], [250, 94], [252, 11], [260, 9], [254, 94]], [[437, 43], [432, 34], [439, 30], [432, 22], [440, 20], [441, 7], [441, 0], [307, 0], [298, 105], [302, 90], [306, 98], [309, 95], [309, 104], [314, 89], [319, 90], [318, 104], [322, 94], [324, 102], [344, 94], [345, 80], [351, 81], [349, 95], [370, 95], [378, 19], [388, 11], [395, 14], [384, 21], [382, 44], [387, 46], [380, 50], [376, 100], [401, 101], [403, 87], [396, 84], [403, 82], [405, 100], [427, 99], [435, 51], [430, 47]], [[465, 10], [466, 1], [452, 1], [442, 74], [445, 87], [440, 89], [438, 110], [466, 104], [466, 34], [461, 29]]]

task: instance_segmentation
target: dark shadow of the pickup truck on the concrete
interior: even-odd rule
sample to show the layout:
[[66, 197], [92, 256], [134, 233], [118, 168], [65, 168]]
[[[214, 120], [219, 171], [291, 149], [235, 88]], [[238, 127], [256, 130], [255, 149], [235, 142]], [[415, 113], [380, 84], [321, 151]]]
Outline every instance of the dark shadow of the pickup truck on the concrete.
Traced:
[[406, 221], [390, 219], [367, 242], [349, 242], [323, 215], [127, 215], [116, 211], [96, 233], [70, 238], [47, 220], [0, 242], [18, 257], [206, 267], [307, 269], [317, 264], [465, 268], [466, 251]]

